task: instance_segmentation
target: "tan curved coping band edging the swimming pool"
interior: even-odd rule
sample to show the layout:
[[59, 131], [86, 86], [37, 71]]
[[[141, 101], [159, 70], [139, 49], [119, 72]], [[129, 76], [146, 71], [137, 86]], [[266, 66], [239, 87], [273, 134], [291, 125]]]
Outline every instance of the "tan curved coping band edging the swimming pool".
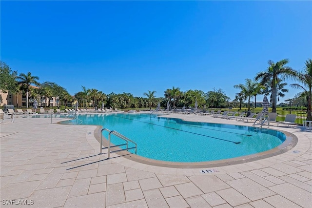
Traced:
[[[181, 118], [176, 118], [176, 119], [181, 119]], [[181, 119], [183, 121], [188, 121], [185, 119]], [[192, 122], [192, 121], [188, 121]], [[205, 123], [205, 122], [203, 122]], [[208, 123], [208, 122], [206, 122]], [[100, 145], [101, 141], [101, 125], [96, 125], [97, 128], [94, 131], [94, 137], [98, 141]], [[248, 126], [248, 125], [244, 125]], [[274, 129], [276, 130], [276, 129]], [[160, 167], [172, 167], [172, 168], [201, 168], [201, 167], [220, 167], [220, 166], [229, 166], [229, 165], [237, 165], [237, 164], [243, 164], [243, 163], [248, 163], [248, 162], [253, 162], [257, 160], [262, 160], [265, 158], [270, 158], [279, 154], [283, 154], [289, 150], [291, 150], [294, 146], [296, 146], [298, 142], [298, 138], [287, 131], [283, 130], [276, 130], [279, 132], [282, 132], [286, 135], [286, 140], [279, 146], [264, 151], [264, 152], [259, 152], [256, 154], [251, 154], [251, 155], [245, 155], [241, 157], [235, 157], [235, 158], [230, 158], [230, 159], [224, 159], [224, 160], [215, 160], [215, 161], [207, 161], [207, 162], [189, 162], [189, 163], [183, 163], [183, 162], [168, 162], [168, 161], [161, 161], [161, 160], [153, 160], [149, 158], [145, 158], [136, 154], [132, 154], [129, 152], [116, 152], [115, 154], [117, 157], [123, 156], [124, 159], [128, 159], [137, 163], [145, 164], [145, 165], [150, 165], [150, 166], [160, 166]], [[102, 141], [103, 146], [108, 146], [108, 141], [105, 139]], [[119, 147], [116, 147], [119, 148]], [[120, 149], [120, 148], [119, 148]], [[113, 159], [114, 157], [111, 157]]]

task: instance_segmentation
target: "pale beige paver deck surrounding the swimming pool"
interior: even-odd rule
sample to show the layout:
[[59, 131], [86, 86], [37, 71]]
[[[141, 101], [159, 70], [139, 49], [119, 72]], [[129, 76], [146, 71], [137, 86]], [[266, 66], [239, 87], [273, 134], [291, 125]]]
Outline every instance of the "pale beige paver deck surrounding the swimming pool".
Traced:
[[[252, 125], [211, 116], [187, 121]], [[312, 131], [290, 132], [289, 151], [216, 167], [151, 166], [98, 155], [97, 126], [59, 125], [64, 118], [15, 118], [0, 124], [1, 207], [312, 207]], [[113, 130], [113, 129], [112, 129]], [[211, 172], [206, 170], [217, 170]]]

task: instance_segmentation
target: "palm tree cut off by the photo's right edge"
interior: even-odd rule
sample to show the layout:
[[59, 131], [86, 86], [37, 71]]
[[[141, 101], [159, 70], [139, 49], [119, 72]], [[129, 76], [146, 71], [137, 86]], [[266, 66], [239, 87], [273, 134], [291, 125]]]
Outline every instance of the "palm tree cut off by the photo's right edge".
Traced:
[[292, 87], [295, 88], [301, 88], [304, 90], [304, 92], [308, 95], [308, 115], [307, 120], [312, 121], [312, 60], [308, 59], [305, 62], [305, 68], [301, 72], [297, 72], [295, 75], [295, 79], [297, 79], [299, 82], [303, 83], [303, 85], [300, 84], [291, 84]]

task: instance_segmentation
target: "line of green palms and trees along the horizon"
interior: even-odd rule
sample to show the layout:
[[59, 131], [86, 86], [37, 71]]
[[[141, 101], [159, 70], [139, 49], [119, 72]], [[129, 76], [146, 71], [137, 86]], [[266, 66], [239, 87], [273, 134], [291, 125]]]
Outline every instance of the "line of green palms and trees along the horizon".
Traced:
[[[256, 104], [257, 95], [269, 96], [269, 100], [273, 106], [273, 112], [276, 112], [277, 101], [285, 96], [288, 89], [285, 89], [287, 83], [285, 79], [292, 79], [298, 83], [292, 83], [290, 86], [301, 89], [298, 95], [293, 99], [285, 101], [290, 105], [306, 106], [308, 111], [307, 120], [312, 120], [311, 115], [311, 98], [312, 98], [312, 60], [305, 62], [302, 71], [296, 71], [290, 66], [288, 59], [278, 62], [269, 61], [268, 68], [257, 73], [254, 79], [246, 79], [245, 83], [234, 85], [234, 88], [240, 91], [235, 94], [235, 99], [230, 102], [230, 98], [222, 89], [213, 88], [212, 91], [204, 92], [202, 90], [190, 89], [182, 92], [179, 87], [173, 86], [163, 92], [164, 97], [156, 98], [156, 91], [148, 90], [142, 93], [144, 97], [134, 97], [131, 93], [114, 92], [105, 94], [98, 89], [88, 89], [82, 86], [82, 90], [71, 96], [68, 91], [59, 86], [57, 83], [44, 82], [39, 83], [39, 77], [33, 76], [30, 72], [27, 74], [13, 71], [5, 62], [0, 61], [0, 90], [2, 92], [10, 91], [13, 94], [26, 95], [26, 105], [28, 107], [29, 97], [39, 99], [40, 96], [47, 98], [59, 97], [60, 103], [67, 106], [74, 100], [78, 101], [81, 107], [113, 107], [113, 108], [155, 108], [159, 103], [162, 107], [166, 107], [169, 102], [171, 108], [194, 107], [197, 102], [199, 107], [239, 107], [244, 105], [247, 100], [247, 106], [250, 110], [251, 99], [254, 98]], [[32, 87], [32, 85], [38, 87]], [[2, 102], [2, 100], [1, 100]], [[286, 104], [285, 104], [286, 105]]]

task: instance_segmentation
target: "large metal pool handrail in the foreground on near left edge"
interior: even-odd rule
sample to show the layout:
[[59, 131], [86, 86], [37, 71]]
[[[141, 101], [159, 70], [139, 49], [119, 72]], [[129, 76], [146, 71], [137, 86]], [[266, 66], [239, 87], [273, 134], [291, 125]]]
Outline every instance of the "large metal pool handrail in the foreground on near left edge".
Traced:
[[[117, 132], [116, 130], [109, 130], [108, 128], [103, 128], [101, 130], [101, 143], [100, 143], [100, 154], [102, 154], [102, 149], [104, 149], [102, 146], [103, 146], [103, 131], [108, 131], [108, 147], [104, 147], [104, 148], [108, 148], [108, 156], [107, 156], [107, 159], [110, 159], [110, 155], [111, 155], [111, 152], [119, 152], [119, 151], [125, 151], [125, 150], [129, 150], [129, 149], [134, 149], [136, 148], [136, 154], [137, 154], [137, 143], [135, 143], [134, 141], [132, 141], [131, 139], [125, 137], [124, 135], [120, 134], [119, 132]], [[120, 139], [126, 141], [125, 144], [121, 144], [121, 145], [114, 145], [114, 146], [111, 146], [111, 134], [114, 134], [115, 136], [119, 137]], [[134, 147], [128, 147], [129, 146], [129, 142], [133, 143], [135, 146]], [[118, 150], [114, 150], [114, 151], [111, 151], [111, 147], [116, 147], [116, 146], [124, 146], [126, 145], [126, 148], [125, 149], [118, 149]]]

